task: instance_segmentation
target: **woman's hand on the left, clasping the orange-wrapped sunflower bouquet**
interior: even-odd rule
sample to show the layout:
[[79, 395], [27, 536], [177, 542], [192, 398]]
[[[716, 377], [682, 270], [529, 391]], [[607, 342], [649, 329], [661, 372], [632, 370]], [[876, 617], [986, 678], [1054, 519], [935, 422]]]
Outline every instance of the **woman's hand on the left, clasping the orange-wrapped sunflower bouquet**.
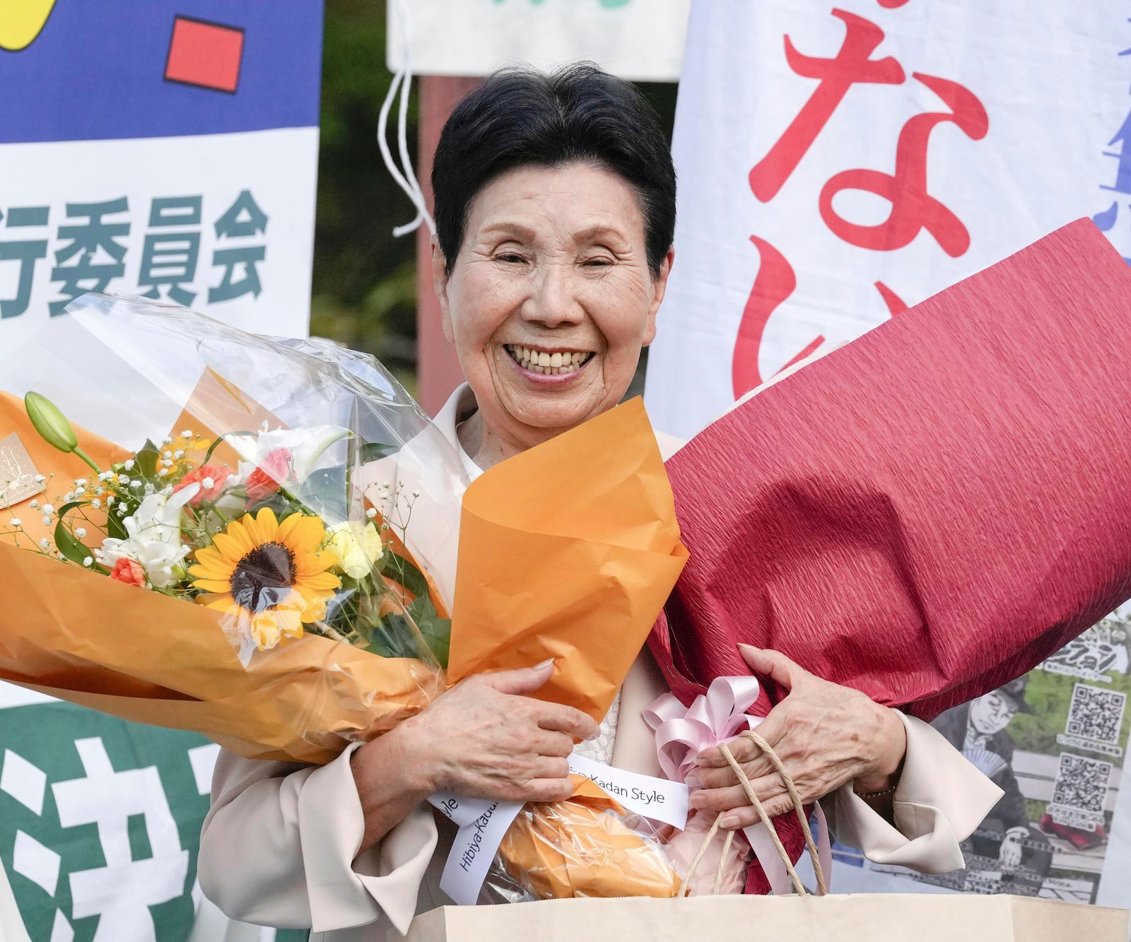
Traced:
[[572, 793], [575, 740], [596, 732], [573, 707], [533, 693], [553, 662], [460, 681], [412, 719], [356, 750], [354, 780], [365, 815], [364, 850], [433, 792], [473, 798], [556, 802]]

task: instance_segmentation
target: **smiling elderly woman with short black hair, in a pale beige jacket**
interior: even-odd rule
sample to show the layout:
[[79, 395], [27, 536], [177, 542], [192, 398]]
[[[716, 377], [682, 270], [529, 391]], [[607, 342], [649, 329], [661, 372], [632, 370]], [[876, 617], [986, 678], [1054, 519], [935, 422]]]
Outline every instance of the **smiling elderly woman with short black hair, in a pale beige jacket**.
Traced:
[[[636, 89], [579, 66], [509, 71], [473, 92], [444, 127], [432, 183], [433, 278], [467, 378], [435, 421], [474, 477], [624, 395], [672, 269], [675, 173]], [[962, 865], [958, 841], [1000, 796], [988, 779], [925, 724], [776, 653], [744, 656], [791, 690], [760, 728], [840, 840], [924, 871]], [[664, 686], [647, 650], [599, 728], [527, 695], [551, 669], [467, 679], [322, 768], [222, 753], [200, 845], [206, 895], [233, 918], [381, 939], [447, 901], [450, 826], [424, 803], [431, 793], [564, 798], [579, 741], [592, 758], [658, 774], [640, 712]], [[777, 775], [744, 746], [760, 797], [784, 812]], [[752, 823], [729, 768], [702, 758], [692, 806], [725, 828]]]

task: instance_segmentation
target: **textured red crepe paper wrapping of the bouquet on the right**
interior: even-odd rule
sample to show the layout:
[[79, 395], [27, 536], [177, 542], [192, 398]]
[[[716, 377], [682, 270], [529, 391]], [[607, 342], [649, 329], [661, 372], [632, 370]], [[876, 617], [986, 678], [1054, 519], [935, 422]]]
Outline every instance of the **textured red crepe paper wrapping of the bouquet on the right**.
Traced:
[[1081, 219], [667, 463], [691, 559], [651, 651], [684, 702], [746, 642], [931, 719], [1131, 597], [1129, 446], [1131, 270]]

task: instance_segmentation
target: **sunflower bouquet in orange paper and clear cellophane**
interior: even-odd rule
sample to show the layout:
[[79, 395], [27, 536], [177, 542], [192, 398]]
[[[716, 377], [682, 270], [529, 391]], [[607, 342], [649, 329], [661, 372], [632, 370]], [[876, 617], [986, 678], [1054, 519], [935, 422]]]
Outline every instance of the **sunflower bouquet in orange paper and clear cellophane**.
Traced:
[[370, 357], [140, 299], [68, 314], [0, 396], [0, 679], [304, 762], [547, 657], [538, 695], [607, 711], [687, 555], [639, 403], [468, 487]]

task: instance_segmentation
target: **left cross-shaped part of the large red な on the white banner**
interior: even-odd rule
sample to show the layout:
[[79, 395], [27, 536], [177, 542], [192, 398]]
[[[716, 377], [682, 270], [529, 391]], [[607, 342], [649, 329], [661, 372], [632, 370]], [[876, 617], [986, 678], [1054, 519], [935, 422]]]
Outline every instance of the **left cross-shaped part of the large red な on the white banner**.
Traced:
[[762, 202], [769, 202], [777, 196], [853, 85], [899, 85], [904, 81], [903, 67], [890, 55], [869, 59], [883, 41], [883, 31], [879, 26], [845, 10], [834, 10], [832, 16], [844, 20], [846, 27], [840, 51], [834, 59], [802, 55], [793, 41], [785, 37], [785, 58], [789, 68], [803, 78], [820, 79], [821, 84], [769, 154], [750, 171], [750, 189]]

